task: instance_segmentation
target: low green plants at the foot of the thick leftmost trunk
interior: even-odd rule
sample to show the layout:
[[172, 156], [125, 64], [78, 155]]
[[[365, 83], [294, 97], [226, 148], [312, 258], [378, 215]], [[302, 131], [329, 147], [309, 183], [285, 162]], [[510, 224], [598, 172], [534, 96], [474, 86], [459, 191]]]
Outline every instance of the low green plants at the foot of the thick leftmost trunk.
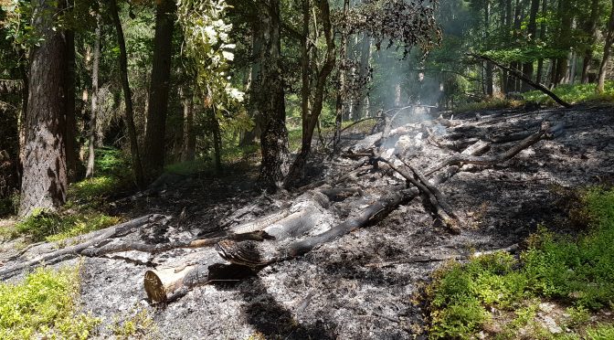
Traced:
[[120, 218], [111, 217], [94, 210], [59, 214], [36, 209], [32, 215], [18, 222], [14, 230], [9, 231], [12, 238], [25, 235], [37, 242], [41, 240], [58, 241], [107, 228], [120, 222]]

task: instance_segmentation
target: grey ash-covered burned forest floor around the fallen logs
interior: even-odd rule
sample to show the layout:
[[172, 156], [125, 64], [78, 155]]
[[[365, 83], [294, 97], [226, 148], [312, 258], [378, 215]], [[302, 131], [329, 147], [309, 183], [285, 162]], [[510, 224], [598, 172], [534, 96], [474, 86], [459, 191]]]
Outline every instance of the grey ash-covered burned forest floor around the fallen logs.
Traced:
[[[147, 190], [105, 208], [125, 219], [147, 214], [168, 217], [167, 223], [146, 226], [124, 237], [164, 244], [215, 235], [261, 218], [316, 187], [355, 189], [348, 197], [330, 202], [327, 218], [316, 227], [320, 230], [310, 231], [317, 235], [406, 184], [405, 178], [381, 162], [378, 166], [369, 162], [373, 156], [368, 153], [374, 154], [374, 150], [382, 157], [397, 154], [427, 173], [478, 140], [490, 142], [485, 156], [504, 154], [520, 142], [514, 136], [534, 133], [542, 122], [562, 123], [564, 128], [509, 160], [464, 165], [438, 186], [458, 218], [460, 234], [450, 233], [427, 200], [416, 197], [386, 218], [303, 256], [271, 263], [241, 280], [212, 280], [172, 302], [158, 304], [148, 301], [143, 290], [144, 272], [198, 259], [204, 250], [68, 256], [50, 265], [58, 268], [80, 263], [81, 310], [101, 320], [94, 337], [122, 337], [117, 329], [129, 322], [136, 327], [133, 335], [169, 339], [425, 336], [428, 320], [421, 292], [431, 273], [446, 260], [464, 260], [475, 252], [523, 249], [524, 240], [538, 226], [575, 235], [579, 232], [577, 221], [569, 218], [568, 211], [577, 189], [614, 184], [611, 105], [484, 110], [453, 117], [444, 112], [439, 120], [431, 118], [425, 124], [399, 115], [385, 139], [370, 138], [369, 129], [348, 129], [339, 154], [333, 158], [312, 154], [307, 177], [298, 189], [256, 192], [256, 166], [227, 169], [219, 176], [165, 174]], [[58, 247], [43, 243], [16, 257], [12, 255], [19, 251], [16, 242], [0, 243], [0, 271]], [[29, 270], [28, 266], [8, 281], [17, 282]]]

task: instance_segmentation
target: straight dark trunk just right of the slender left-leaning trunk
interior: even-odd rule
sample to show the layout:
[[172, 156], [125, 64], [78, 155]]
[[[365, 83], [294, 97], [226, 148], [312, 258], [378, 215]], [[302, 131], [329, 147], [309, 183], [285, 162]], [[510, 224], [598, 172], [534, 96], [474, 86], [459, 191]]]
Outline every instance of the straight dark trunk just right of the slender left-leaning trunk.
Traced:
[[176, 12], [175, 0], [159, 0], [156, 4], [154, 62], [145, 129], [147, 154], [144, 163], [147, 169], [145, 179], [148, 182], [154, 181], [164, 168], [164, 136]]

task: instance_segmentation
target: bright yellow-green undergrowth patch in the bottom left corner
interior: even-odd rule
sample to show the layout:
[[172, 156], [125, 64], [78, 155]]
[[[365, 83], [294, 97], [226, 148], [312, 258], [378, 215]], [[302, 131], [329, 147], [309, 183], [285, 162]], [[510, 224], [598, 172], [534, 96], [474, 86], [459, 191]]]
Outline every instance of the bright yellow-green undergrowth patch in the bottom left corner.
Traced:
[[0, 283], [0, 339], [88, 338], [100, 320], [79, 312], [79, 283], [79, 267]]

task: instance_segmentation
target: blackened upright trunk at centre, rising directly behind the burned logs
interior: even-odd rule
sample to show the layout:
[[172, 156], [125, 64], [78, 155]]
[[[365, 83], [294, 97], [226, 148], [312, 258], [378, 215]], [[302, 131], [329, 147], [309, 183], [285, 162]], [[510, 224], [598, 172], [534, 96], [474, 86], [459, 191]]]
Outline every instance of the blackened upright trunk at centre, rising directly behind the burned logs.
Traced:
[[288, 131], [286, 130], [286, 103], [281, 77], [281, 18], [280, 0], [265, 0], [259, 10], [262, 26], [260, 77], [258, 97], [259, 113], [264, 131], [260, 136], [262, 165], [259, 186], [276, 190], [288, 174]]

